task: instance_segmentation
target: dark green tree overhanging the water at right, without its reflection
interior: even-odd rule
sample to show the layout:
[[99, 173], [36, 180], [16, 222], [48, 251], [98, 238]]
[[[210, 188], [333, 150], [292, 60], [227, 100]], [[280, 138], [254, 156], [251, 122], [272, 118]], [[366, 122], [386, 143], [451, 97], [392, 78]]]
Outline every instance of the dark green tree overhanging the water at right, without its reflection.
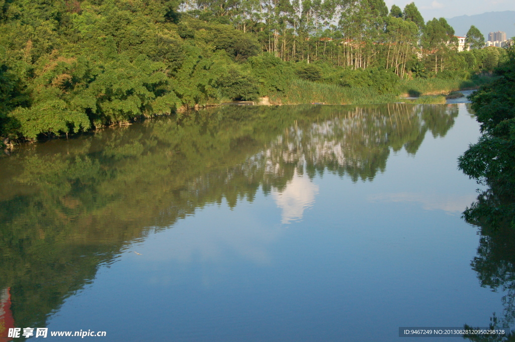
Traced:
[[459, 157], [459, 168], [490, 188], [464, 216], [493, 229], [510, 222], [515, 229], [515, 52], [496, 70], [499, 78], [470, 96], [483, 133]]

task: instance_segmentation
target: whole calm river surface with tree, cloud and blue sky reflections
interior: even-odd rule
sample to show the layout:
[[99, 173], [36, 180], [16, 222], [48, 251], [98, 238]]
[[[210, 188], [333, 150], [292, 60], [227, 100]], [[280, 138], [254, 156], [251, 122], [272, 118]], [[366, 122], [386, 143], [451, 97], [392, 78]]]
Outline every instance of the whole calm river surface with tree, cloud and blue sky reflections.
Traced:
[[478, 186], [456, 158], [478, 136], [468, 104], [229, 106], [19, 147], [0, 157], [0, 329], [410, 341], [399, 327], [510, 325], [515, 239], [460, 218]]

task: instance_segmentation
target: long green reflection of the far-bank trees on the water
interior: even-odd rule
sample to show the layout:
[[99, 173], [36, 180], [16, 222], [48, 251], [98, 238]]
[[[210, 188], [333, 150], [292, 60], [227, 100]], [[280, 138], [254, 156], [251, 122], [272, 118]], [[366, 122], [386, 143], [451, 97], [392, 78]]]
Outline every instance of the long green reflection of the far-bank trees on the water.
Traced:
[[44, 327], [135, 239], [209, 203], [281, 191], [296, 172], [372, 179], [390, 150], [416, 153], [426, 131], [445, 134], [456, 114], [227, 107], [28, 146], [2, 159], [0, 289], [11, 289], [16, 326]]

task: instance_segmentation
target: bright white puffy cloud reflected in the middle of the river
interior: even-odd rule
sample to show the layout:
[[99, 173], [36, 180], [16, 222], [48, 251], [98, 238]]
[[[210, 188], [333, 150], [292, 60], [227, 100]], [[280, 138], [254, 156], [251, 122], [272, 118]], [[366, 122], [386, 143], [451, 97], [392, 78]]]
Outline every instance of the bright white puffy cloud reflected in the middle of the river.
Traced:
[[318, 186], [313, 184], [306, 175], [299, 175], [295, 171], [293, 178], [286, 184], [284, 190], [272, 191], [277, 206], [283, 211], [281, 223], [301, 220], [304, 210], [315, 202], [317, 193]]

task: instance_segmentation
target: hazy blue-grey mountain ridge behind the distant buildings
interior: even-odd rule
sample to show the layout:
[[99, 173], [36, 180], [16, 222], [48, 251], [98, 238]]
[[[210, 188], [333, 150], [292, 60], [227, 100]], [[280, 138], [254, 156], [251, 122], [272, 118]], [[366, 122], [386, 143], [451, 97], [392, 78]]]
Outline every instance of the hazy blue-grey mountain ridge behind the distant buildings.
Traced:
[[465, 37], [471, 25], [483, 33], [485, 41], [488, 40], [488, 32], [504, 31], [508, 39], [515, 36], [515, 11], [460, 15], [447, 19], [447, 22], [461, 37]]

